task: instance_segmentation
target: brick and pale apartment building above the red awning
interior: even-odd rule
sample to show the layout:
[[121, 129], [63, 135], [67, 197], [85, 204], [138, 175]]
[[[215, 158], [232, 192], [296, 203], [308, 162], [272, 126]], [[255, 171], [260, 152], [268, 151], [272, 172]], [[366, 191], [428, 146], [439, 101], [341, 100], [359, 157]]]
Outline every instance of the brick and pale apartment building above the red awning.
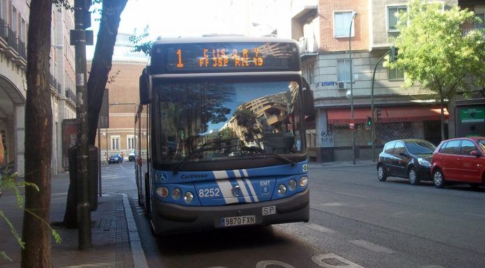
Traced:
[[[378, 63], [399, 34], [394, 14], [406, 10], [407, 2], [292, 1], [292, 38], [300, 42], [303, 76], [314, 92], [316, 107], [314, 129], [307, 132], [310, 159], [353, 159], [351, 123], [355, 156], [371, 159], [371, 127], [367, 125], [373, 112], [371, 95], [378, 114], [376, 151], [392, 139], [440, 141], [439, 106], [429, 100], [429, 92], [419, 86], [403, 88], [403, 70], [388, 70]], [[444, 3], [456, 6], [458, 1]], [[447, 111], [445, 115], [449, 117]]]

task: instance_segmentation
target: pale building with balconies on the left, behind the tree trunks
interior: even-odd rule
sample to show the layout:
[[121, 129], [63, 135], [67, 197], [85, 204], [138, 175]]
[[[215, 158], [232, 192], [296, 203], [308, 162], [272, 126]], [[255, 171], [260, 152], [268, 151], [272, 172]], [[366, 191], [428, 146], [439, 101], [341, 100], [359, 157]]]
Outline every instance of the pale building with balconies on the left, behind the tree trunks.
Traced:
[[[6, 148], [6, 163], [24, 173], [24, 111], [26, 100], [26, 40], [29, 1], [0, 0], [0, 132]], [[72, 1], [73, 3], [73, 1]], [[68, 10], [52, 10], [50, 85], [53, 114], [52, 173], [61, 165], [61, 126], [75, 117], [74, 50], [69, 30], [74, 16]]]

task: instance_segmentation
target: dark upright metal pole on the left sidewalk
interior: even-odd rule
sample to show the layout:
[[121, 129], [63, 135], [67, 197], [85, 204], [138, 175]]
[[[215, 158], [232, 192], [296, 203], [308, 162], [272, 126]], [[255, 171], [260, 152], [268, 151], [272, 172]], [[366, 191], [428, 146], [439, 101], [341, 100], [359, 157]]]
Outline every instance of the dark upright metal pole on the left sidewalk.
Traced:
[[70, 45], [75, 46], [76, 56], [76, 117], [77, 132], [77, 223], [79, 249], [89, 249], [91, 242], [91, 208], [89, 206], [88, 175], [88, 90], [86, 86], [86, 45], [93, 45], [91, 0], [74, 1], [75, 29], [70, 31]]

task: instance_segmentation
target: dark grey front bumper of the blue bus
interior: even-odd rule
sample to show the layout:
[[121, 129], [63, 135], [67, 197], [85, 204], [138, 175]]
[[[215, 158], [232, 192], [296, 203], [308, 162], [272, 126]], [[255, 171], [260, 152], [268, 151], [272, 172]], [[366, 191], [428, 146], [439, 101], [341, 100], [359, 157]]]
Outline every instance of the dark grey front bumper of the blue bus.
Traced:
[[[263, 210], [275, 206], [274, 214], [263, 216]], [[172, 203], [153, 200], [152, 224], [155, 234], [176, 232], [196, 232], [222, 227], [222, 218], [252, 216], [256, 221], [252, 226], [273, 223], [290, 223], [309, 221], [309, 189], [288, 198], [241, 205], [224, 205], [213, 207], [185, 207]]]

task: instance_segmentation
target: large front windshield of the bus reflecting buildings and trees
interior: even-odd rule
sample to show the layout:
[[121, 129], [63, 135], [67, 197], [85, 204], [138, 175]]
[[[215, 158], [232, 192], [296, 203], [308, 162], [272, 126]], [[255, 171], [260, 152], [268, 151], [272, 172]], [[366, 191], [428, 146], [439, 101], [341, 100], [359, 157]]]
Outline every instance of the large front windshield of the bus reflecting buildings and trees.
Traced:
[[153, 90], [155, 163], [302, 151], [298, 81], [155, 79]]

